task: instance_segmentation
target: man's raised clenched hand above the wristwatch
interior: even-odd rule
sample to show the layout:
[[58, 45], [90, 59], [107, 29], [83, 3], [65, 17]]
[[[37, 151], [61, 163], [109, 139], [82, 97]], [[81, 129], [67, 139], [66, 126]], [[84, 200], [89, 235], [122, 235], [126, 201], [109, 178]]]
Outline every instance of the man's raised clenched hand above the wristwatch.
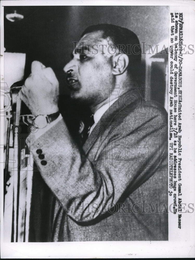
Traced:
[[21, 99], [34, 116], [58, 112], [59, 82], [52, 68], [33, 61], [31, 74], [21, 89]]

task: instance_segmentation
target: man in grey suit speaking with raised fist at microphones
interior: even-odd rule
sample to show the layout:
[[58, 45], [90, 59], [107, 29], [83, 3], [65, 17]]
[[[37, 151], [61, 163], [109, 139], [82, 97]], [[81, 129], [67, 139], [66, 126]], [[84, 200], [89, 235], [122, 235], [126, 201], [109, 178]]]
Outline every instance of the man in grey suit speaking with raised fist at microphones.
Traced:
[[21, 94], [37, 127], [28, 146], [55, 198], [49, 241], [168, 240], [167, 113], [137, 86], [140, 61], [126, 28], [81, 35], [64, 71], [71, 99], [92, 112], [82, 145], [59, 115], [53, 70], [32, 63]]

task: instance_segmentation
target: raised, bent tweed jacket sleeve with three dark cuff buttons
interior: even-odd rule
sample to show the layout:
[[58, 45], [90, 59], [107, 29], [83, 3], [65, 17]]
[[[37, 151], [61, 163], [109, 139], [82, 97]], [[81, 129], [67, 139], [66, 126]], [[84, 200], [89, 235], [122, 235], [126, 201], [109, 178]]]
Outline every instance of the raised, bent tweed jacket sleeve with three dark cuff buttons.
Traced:
[[98, 143], [91, 160], [79, 151], [63, 119], [30, 143], [42, 178], [71, 218], [101, 218], [106, 205], [122, 202], [150, 176], [160, 179], [167, 171], [167, 126], [159, 111], [126, 117], [120, 132]]

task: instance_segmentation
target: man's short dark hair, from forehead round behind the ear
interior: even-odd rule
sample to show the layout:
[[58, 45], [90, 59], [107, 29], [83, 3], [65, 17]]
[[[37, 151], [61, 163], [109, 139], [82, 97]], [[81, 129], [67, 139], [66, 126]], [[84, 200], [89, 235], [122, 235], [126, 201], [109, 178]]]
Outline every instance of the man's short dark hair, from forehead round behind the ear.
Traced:
[[87, 27], [81, 37], [95, 31], [103, 31], [103, 38], [109, 37], [116, 47], [124, 46], [124, 49], [120, 48], [129, 57], [128, 73], [131, 80], [137, 82], [141, 66], [141, 47], [137, 35], [127, 28], [114, 24], [96, 24]]

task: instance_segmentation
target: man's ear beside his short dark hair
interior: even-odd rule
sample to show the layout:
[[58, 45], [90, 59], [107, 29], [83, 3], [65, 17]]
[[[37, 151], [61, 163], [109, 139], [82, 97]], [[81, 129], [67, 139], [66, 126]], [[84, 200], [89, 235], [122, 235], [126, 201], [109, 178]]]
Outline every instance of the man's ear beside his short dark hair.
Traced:
[[113, 57], [112, 74], [120, 75], [126, 70], [129, 64], [129, 58], [127, 54], [117, 54]]

